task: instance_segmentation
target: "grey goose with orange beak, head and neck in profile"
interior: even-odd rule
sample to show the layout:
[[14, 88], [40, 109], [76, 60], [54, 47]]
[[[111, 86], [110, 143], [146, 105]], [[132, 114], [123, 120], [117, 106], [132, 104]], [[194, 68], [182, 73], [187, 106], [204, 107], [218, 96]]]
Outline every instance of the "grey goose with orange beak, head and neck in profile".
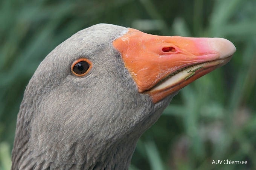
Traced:
[[97, 24], [40, 63], [17, 116], [12, 170], [125, 170], [139, 137], [184, 86], [223, 66], [229, 40]]

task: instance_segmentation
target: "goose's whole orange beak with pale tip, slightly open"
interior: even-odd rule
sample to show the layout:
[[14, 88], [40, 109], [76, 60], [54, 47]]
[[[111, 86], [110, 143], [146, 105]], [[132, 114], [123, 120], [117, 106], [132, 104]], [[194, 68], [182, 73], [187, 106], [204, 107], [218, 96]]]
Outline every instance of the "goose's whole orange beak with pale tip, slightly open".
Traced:
[[133, 28], [113, 45], [138, 91], [148, 93], [153, 103], [223, 66], [236, 51], [222, 38], [155, 36]]

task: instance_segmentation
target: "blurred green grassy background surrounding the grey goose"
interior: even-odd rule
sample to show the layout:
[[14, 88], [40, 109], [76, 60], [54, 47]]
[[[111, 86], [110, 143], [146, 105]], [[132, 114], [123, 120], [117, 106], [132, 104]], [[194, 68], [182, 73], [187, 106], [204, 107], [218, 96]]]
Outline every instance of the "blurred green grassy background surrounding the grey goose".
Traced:
[[[256, 169], [255, 0], [0, 1], [0, 169], [37, 66], [77, 31], [110, 23], [159, 35], [223, 37], [230, 63], [183, 88], [140, 138], [131, 170]], [[215, 165], [213, 160], [247, 161]]]

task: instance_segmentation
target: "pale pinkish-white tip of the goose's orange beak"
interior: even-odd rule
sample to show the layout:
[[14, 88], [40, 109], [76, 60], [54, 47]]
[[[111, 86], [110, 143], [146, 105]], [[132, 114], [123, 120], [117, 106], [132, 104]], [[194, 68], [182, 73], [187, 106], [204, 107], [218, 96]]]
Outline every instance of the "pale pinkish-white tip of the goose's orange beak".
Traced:
[[208, 39], [210, 47], [217, 52], [219, 58], [224, 59], [233, 55], [236, 51], [235, 45], [224, 38], [210, 38]]

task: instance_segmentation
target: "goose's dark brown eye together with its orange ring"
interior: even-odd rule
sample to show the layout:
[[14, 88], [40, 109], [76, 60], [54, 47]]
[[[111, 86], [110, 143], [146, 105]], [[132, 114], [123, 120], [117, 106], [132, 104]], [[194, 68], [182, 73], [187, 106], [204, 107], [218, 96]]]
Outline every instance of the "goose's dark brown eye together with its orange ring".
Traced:
[[80, 58], [73, 62], [71, 71], [75, 76], [85, 76], [91, 69], [92, 63], [86, 58]]

